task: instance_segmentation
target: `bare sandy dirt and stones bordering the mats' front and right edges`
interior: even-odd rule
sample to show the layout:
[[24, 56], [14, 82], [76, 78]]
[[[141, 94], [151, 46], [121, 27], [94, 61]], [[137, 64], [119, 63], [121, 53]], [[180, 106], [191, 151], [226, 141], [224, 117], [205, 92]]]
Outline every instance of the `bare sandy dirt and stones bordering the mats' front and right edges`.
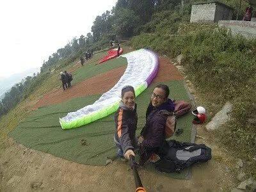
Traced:
[[[166, 58], [166, 63], [173, 67]], [[166, 65], [167, 65], [166, 64]], [[186, 79], [179, 63], [175, 63], [185, 77], [189, 91], [193, 84]], [[212, 159], [196, 164], [189, 180], [172, 179], [140, 168], [140, 177], [147, 191], [239, 191], [252, 186], [253, 180], [243, 173], [246, 166], [221, 148], [205, 125], [198, 125], [196, 143], [212, 148]], [[242, 183], [241, 183], [242, 182]], [[247, 187], [248, 188], [248, 187]], [[134, 191], [134, 180], [128, 163], [114, 161], [107, 166], [74, 163], [26, 148], [12, 138], [0, 157], [0, 191]], [[244, 190], [244, 189], [243, 189]]]

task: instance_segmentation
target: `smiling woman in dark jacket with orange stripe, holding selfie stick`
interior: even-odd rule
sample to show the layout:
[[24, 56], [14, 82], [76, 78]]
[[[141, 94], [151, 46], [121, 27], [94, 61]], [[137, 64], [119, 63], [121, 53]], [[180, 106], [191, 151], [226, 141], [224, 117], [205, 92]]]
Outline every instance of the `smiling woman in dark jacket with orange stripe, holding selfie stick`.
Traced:
[[137, 104], [135, 103], [135, 92], [132, 86], [122, 88], [122, 100], [119, 108], [115, 113], [116, 132], [114, 141], [118, 147], [118, 156], [129, 157], [135, 156], [134, 148], [138, 146], [138, 140], [135, 137], [137, 129], [138, 115], [136, 112]]

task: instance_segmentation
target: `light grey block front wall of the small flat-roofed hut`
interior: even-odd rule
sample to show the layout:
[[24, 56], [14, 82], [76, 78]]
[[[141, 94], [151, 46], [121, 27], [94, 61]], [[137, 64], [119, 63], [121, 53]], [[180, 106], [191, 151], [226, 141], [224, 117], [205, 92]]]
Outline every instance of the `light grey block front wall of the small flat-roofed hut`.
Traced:
[[190, 22], [214, 22], [215, 3], [192, 4]]

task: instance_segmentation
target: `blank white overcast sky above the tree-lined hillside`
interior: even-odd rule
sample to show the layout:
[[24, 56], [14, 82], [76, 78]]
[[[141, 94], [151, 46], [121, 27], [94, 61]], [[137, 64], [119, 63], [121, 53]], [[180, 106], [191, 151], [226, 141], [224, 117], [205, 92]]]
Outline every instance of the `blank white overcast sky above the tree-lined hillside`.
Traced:
[[8, 0], [0, 3], [0, 79], [40, 67], [117, 0]]

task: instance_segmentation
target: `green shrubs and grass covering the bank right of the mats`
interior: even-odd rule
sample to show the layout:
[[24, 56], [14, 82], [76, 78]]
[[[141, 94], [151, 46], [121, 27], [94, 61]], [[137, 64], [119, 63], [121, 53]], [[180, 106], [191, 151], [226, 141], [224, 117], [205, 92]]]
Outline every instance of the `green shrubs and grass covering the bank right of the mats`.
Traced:
[[[210, 25], [189, 33], [160, 36], [142, 34], [132, 38], [136, 48], [150, 47], [174, 58], [182, 53], [182, 65], [216, 113], [232, 102], [232, 121], [217, 133], [220, 141], [249, 162], [248, 172], [256, 177], [256, 40], [232, 36], [230, 31]], [[194, 26], [194, 27], [195, 27]]]

